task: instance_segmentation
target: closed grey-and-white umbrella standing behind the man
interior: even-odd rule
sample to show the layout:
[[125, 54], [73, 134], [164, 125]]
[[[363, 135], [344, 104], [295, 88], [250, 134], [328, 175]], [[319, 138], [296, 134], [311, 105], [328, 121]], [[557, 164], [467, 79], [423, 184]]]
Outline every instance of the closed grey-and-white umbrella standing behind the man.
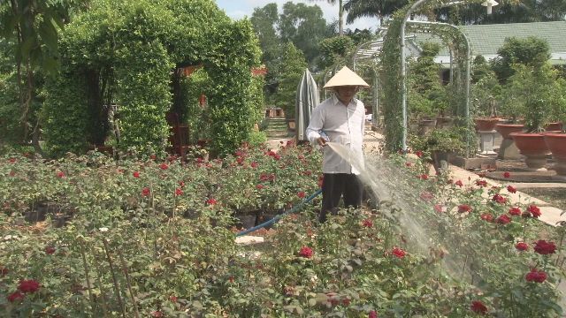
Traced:
[[310, 75], [309, 69], [302, 73], [301, 81], [297, 87], [294, 118], [297, 141], [308, 140], [306, 129], [309, 126], [310, 114], [318, 106], [318, 87], [315, 79]]

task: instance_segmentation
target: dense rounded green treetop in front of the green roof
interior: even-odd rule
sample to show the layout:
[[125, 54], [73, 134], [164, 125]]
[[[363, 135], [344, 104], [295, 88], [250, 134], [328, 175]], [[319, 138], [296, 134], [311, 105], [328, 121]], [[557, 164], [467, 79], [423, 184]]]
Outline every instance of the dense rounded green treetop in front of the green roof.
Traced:
[[501, 83], [506, 83], [513, 76], [514, 64], [540, 67], [550, 58], [550, 47], [546, 40], [534, 36], [528, 38], [511, 37], [505, 39], [503, 46], [497, 50], [498, 57], [493, 59], [493, 72]]

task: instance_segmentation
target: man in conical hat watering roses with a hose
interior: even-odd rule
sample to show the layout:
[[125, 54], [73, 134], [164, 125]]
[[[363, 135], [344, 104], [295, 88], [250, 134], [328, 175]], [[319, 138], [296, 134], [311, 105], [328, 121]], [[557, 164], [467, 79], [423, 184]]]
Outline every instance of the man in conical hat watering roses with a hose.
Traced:
[[[360, 87], [369, 85], [344, 66], [325, 84], [325, 88], [333, 89], [334, 94], [313, 110], [307, 127], [309, 141], [324, 151], [322, 208], [318, 216], [321, 223], [326, 221], [329, 212], [336, 214], [342, 197], [347, 208], [358, 208], [362, 203], [360, 172], [348, 160], [350, 156], [356, 157], [363, 164], [365, 108], [363, 102], [354, 98]], [[329, 142], [331, 146], [339, 144], [342, 147], [328, 147]], [[342, 150], [340, 154], [338, 148]]]

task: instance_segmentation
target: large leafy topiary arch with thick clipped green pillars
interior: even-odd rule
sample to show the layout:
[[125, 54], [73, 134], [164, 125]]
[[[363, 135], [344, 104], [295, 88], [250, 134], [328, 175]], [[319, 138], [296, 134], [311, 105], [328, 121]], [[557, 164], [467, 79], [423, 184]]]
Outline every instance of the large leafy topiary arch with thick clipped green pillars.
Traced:
[[[101, 144], [119, 105], [118, 147], [163, 151], [165, 113], [181, 114], [180, 68], [202, 65], [211, 148], [247, 140], [261, 116], [252, 78], [260, 49], [249, 20], [233, 22], [211, 0], [95, 0], [61, 36], [62, 69], [46, 83], [44, 139], [53, 155]], [[196, 101], [195, 101], [196, 102]]]

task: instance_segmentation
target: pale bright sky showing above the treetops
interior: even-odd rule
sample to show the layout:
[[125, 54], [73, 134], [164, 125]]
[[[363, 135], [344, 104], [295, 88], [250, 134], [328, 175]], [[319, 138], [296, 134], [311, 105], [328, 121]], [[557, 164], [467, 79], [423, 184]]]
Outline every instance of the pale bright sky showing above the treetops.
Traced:
[[[254, 8], [264, 7], [265, 4], [276, 3], [279, 8], [279, 12], [283, 8], [283, 4], [289, 2], [290, 0], [216, 0], [218, 7], [226, 11], [226, 15], [232, 19], [242, 19], [244, 16], [251, 18], [251, 14], [254, 12]], [[335, 4], [328, 4], [325, 0], [319, 1], [308, 1], [308, 0], [293, 0], [291, 1], [295, 4], [307, 4], [314, 5], [317, 4], [323, 11], [326, 23], [331, 23], [333, 20], [338, 20], [338, 1]], [[346, 22], [346, 14], [344, 15], [344, 22]], [[356, 28], [364, 29], [371, 28], [372, 31], [376, 30], [378, 25], [377, 18], [362, 18], [356, 19], [352, 24], [345, 24], [344, 29]]]

